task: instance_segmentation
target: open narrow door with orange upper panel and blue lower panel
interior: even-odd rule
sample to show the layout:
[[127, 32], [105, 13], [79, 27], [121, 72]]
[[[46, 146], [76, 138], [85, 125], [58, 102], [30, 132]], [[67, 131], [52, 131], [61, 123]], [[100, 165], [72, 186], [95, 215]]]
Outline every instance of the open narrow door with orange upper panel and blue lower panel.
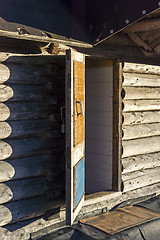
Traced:
[[72, 224], [85, 194], [85, 56], [66, 53], [66, 223]]

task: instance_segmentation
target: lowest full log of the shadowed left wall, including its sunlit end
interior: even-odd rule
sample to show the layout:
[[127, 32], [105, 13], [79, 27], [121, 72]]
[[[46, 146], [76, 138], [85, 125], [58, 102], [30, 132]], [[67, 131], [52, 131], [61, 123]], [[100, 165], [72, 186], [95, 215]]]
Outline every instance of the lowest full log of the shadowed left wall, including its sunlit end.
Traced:
[[6, 203], [0, 206], [0, 226], [42, 216], [46, 211], [58, 208], [62, 203], [61, 199], [48, 200], [44, 196]]

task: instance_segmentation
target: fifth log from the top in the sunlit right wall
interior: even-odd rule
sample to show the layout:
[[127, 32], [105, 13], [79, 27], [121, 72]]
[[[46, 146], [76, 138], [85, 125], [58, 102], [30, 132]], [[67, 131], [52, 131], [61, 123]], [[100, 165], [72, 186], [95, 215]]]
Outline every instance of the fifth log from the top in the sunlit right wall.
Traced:
[[123, 113], [123, 125], [158, 122], [160, 122], [160, 111]]

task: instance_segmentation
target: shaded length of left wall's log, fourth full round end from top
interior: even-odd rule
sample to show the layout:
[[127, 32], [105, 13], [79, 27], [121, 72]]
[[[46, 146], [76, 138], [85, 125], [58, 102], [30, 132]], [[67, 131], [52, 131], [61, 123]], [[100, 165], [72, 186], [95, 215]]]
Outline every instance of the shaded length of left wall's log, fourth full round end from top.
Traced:
[[[34, 137], [41, 135], [48, 135], [52, 133], [52, 138], [60, 138], [60, 122], [52, 122], [48, 119], [30, 119], [20, 121], [8, 121], [12, 128], [9, 139], [15, 137]], [[6, 133], [7, 134], [7, 133]], [[3, 134], [4, 135], [4, 134]], [[0, 137], [1, 137], [1, 125], [0, 125]], [[5, 137], [3, 137], [5, 138]]]

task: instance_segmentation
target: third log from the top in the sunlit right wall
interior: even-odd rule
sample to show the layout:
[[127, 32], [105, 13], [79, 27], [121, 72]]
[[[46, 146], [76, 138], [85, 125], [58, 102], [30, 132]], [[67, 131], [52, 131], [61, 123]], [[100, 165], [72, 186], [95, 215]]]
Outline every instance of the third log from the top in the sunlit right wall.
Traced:
[[128, 99], [160, 99], [160, 88], [124, 87], [125, 100]]

